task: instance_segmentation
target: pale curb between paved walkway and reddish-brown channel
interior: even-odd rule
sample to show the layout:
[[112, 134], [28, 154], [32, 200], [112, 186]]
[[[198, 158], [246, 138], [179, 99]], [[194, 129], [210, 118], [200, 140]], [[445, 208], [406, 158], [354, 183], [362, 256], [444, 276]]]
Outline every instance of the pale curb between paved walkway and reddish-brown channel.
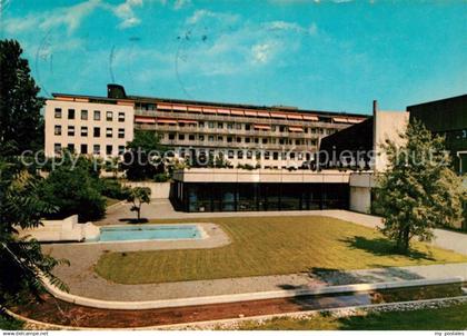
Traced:
[[401, 287], [417, 287], [417, 286], [429, 286], [429, 285], [443, 285], [443, 284], [455, 284], [464, 283], [463, 277], [441, 278], [441, 279], [420, 279], [420, 280], [407, 280], [407, 281], [393, 281], [393, 283], [377, 283], [377, 284], [355, 284], [345, 286], [329, 286], [316, 289], [281, 289], [272, 291], [257, 291], [257, 293], [242, 293], [231, 295], [217, 295], [217, 296], [203, 296], [203, 297], [189, 297], [189, 298], [177, 298], [177, 299], [163, 299], [163, 300], [148, 300], [148, 302], [117, 302], [117, 300], [101, 300], [95, 298], [82, 297], [69, 293], [64, 293], [53, 286], [47, 278], [42, 278], [42, 281], [47, 290], [58, 299], [68, 302], [76, 305], [102, 308], [102, 309], [157, 309], [157, 308], [175, 308], [185, 306], [200, 306], [210, 304], [228, 304], [239, 303], [249, 300], [261, 300], [272, 298], [286, 298], [286, 297], [298, 297], [298, 296], [314, 296], [322, 294], [338, 294], [338, 293], [355, 293], [366, 291], [372, 289], [390, 289]]

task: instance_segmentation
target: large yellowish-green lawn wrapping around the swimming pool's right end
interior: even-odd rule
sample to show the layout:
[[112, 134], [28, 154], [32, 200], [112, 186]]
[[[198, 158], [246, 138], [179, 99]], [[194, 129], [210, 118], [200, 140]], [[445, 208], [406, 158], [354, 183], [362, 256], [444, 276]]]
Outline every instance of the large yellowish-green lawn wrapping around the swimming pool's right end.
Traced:
[[[163, 223], [189, 223], [165, 220]], [[467, 257], [414, 244], [408, 256], [367, 227], [335, 218], [236, 217], [203, 218], [218, 224], [231, 239], [212, 249], [108, 253], [96, 271], [120, 284], [150, 284], [279, 275], [324, 269], [358, 269], [387, 266], [467, 261]], [[159, 221], [162, 223], [162, 221]]]

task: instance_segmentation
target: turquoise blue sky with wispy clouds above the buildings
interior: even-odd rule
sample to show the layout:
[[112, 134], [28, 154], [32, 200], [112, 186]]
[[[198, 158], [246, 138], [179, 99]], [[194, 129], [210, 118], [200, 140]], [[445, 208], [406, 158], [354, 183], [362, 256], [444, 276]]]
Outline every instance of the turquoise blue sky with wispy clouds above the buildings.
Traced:
[[0, 0], [41, 95], [370, 113], [467, 93], [467, 1]]

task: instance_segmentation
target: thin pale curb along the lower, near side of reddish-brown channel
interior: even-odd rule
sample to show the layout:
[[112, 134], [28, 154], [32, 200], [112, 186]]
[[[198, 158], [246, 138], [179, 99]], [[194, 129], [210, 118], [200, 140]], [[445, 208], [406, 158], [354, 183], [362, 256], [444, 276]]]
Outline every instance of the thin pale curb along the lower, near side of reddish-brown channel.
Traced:
[[[291, 317], [291, 318], [307, 318], [315, 316], [318, 313], [330, 313], [337, 314], [339, 312], [348, 312], [348, 310], [372, 310], [374, 308], [381, 308], [381, 307], [393, 307], [398, 305], [410, 305], [410, 304], [423, 304], [423, 303], [438, 303], [438, 302], [456, 302], [456, 300], [467, 300], [466, 296], [455, 296], [448, 298], [431, 298], [431, 299], [423, 299], [423, 300], [409, 300], [409, 302], [398, 302], [398, 303], [387, 303], [387, 304], [377, 304], [377, 305], [362, 305], [362, 306], [349, 306], [349, 307], [338, 307], [338, 308], [327, 308], [327, 309], [316, 309], [316, 310], [306, 310], [306, 312], [291, 312], [291, 313], [279, 313], [279, 314], [268, 314], [268, 315], [257, 315], [257, 316], [248, 316], [248, 317], [237, 317], [237, 318], [225, 318], [225, 319], [213, 319], [213, 320], [200, 320], [200, 322], [192, 322], [192, 323], [180, 323], [180, 324], [169, 324], [169, 325], [157, 325], [157, 326], [146, 326], [146, 327], [133, 327], [133, 328], [101, 328], [101, 327], [73, 327], [73, 326], [66, 326], [66, 325], [58, 325], [51, 324], [46, 322], [40, 322], [37, 319], [32, 319], [29, 317], [23, 317], [19, 314], [11, 312], [8, 308], [4, 308], [6, 314], [9, 316], [22, 320], [24, 323], [29, 323], [32, 325], [38, 325], [43, 327], [44, 329], [68, 329], [68, 330], [157, 330], [157, 329], [167, 329], [167, 330], [180, 330], [182, 328], [188, 327], [216, 327], [227, 323], [242, 323], [242, 322], [252, 322], [252, 320], [269, 320], [272, 318], [280, 318], [280, 317]], [[417, 310], [417, 309], [413, 309]]]

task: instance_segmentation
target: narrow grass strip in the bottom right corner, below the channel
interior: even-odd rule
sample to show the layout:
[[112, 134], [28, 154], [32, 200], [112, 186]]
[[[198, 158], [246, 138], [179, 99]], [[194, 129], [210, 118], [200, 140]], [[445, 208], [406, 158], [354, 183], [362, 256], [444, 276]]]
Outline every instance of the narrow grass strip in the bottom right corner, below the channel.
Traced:
[[242, 330], [465, 330], [467, 303], [436, 309], [370, 313], [336, 318], [317, 315], [304, 319], [274, 318], [266, 323], [248, 322]]

